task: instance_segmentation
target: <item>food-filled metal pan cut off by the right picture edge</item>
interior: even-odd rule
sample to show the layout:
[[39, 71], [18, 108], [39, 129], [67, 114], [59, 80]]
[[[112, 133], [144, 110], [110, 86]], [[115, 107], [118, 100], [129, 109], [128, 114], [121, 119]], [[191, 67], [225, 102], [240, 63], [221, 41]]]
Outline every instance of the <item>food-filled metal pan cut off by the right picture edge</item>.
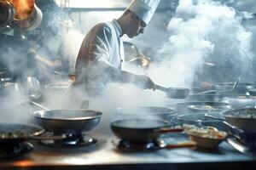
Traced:
[[243, 108], [222, 113], [226, 122], [240, 128], [245, 133], [256, 133], [256, 109]]

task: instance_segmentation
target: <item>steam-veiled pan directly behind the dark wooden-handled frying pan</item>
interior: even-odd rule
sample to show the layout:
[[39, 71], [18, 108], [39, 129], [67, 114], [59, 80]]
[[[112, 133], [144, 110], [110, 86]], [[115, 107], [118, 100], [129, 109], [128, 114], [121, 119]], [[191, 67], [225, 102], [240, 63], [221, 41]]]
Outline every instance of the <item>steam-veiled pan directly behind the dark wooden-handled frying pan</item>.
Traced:
[[116, 109], [116, 113], [123, 118], [156, 118], [170, 121], [175, 111], [166, 107], [137, 106], [119, 107]]

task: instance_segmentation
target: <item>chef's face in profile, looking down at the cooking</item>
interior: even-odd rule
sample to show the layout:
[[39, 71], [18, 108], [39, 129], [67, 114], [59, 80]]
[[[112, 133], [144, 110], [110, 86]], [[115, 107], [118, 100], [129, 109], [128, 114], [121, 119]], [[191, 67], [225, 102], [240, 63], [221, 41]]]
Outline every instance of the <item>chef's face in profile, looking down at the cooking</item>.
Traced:
[[136, 14], [131, 16], [131, 25], [128, 28], [127, 36], [132, 38], [138, 36], [140, 33], [143, 34], [146, 23], [137, 17]]

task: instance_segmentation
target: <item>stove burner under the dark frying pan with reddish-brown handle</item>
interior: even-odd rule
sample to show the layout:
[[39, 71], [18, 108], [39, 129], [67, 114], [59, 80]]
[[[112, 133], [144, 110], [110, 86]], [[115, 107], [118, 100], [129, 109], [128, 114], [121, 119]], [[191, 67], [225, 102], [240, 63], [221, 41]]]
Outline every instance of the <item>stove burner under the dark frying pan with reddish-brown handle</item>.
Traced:
[[113, 141], [113, 144], [122, 151], [153, 151], [160, 150], [166, 146], [166, 142], [163, 140], [155, 140], [146, 144], [133, 144], [124, 139], [120, 139], [117, 142]]

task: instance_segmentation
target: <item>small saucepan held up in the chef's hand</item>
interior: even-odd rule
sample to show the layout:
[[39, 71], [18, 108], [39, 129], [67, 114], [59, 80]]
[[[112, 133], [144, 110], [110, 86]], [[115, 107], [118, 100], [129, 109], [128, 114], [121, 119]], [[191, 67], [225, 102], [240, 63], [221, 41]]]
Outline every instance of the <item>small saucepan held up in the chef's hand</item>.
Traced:
[[185, 99], [189, 96], [189, 88], [165, 88], [157, 84], [155, 84], [155, 88], [165, 92], [172, 99]]

